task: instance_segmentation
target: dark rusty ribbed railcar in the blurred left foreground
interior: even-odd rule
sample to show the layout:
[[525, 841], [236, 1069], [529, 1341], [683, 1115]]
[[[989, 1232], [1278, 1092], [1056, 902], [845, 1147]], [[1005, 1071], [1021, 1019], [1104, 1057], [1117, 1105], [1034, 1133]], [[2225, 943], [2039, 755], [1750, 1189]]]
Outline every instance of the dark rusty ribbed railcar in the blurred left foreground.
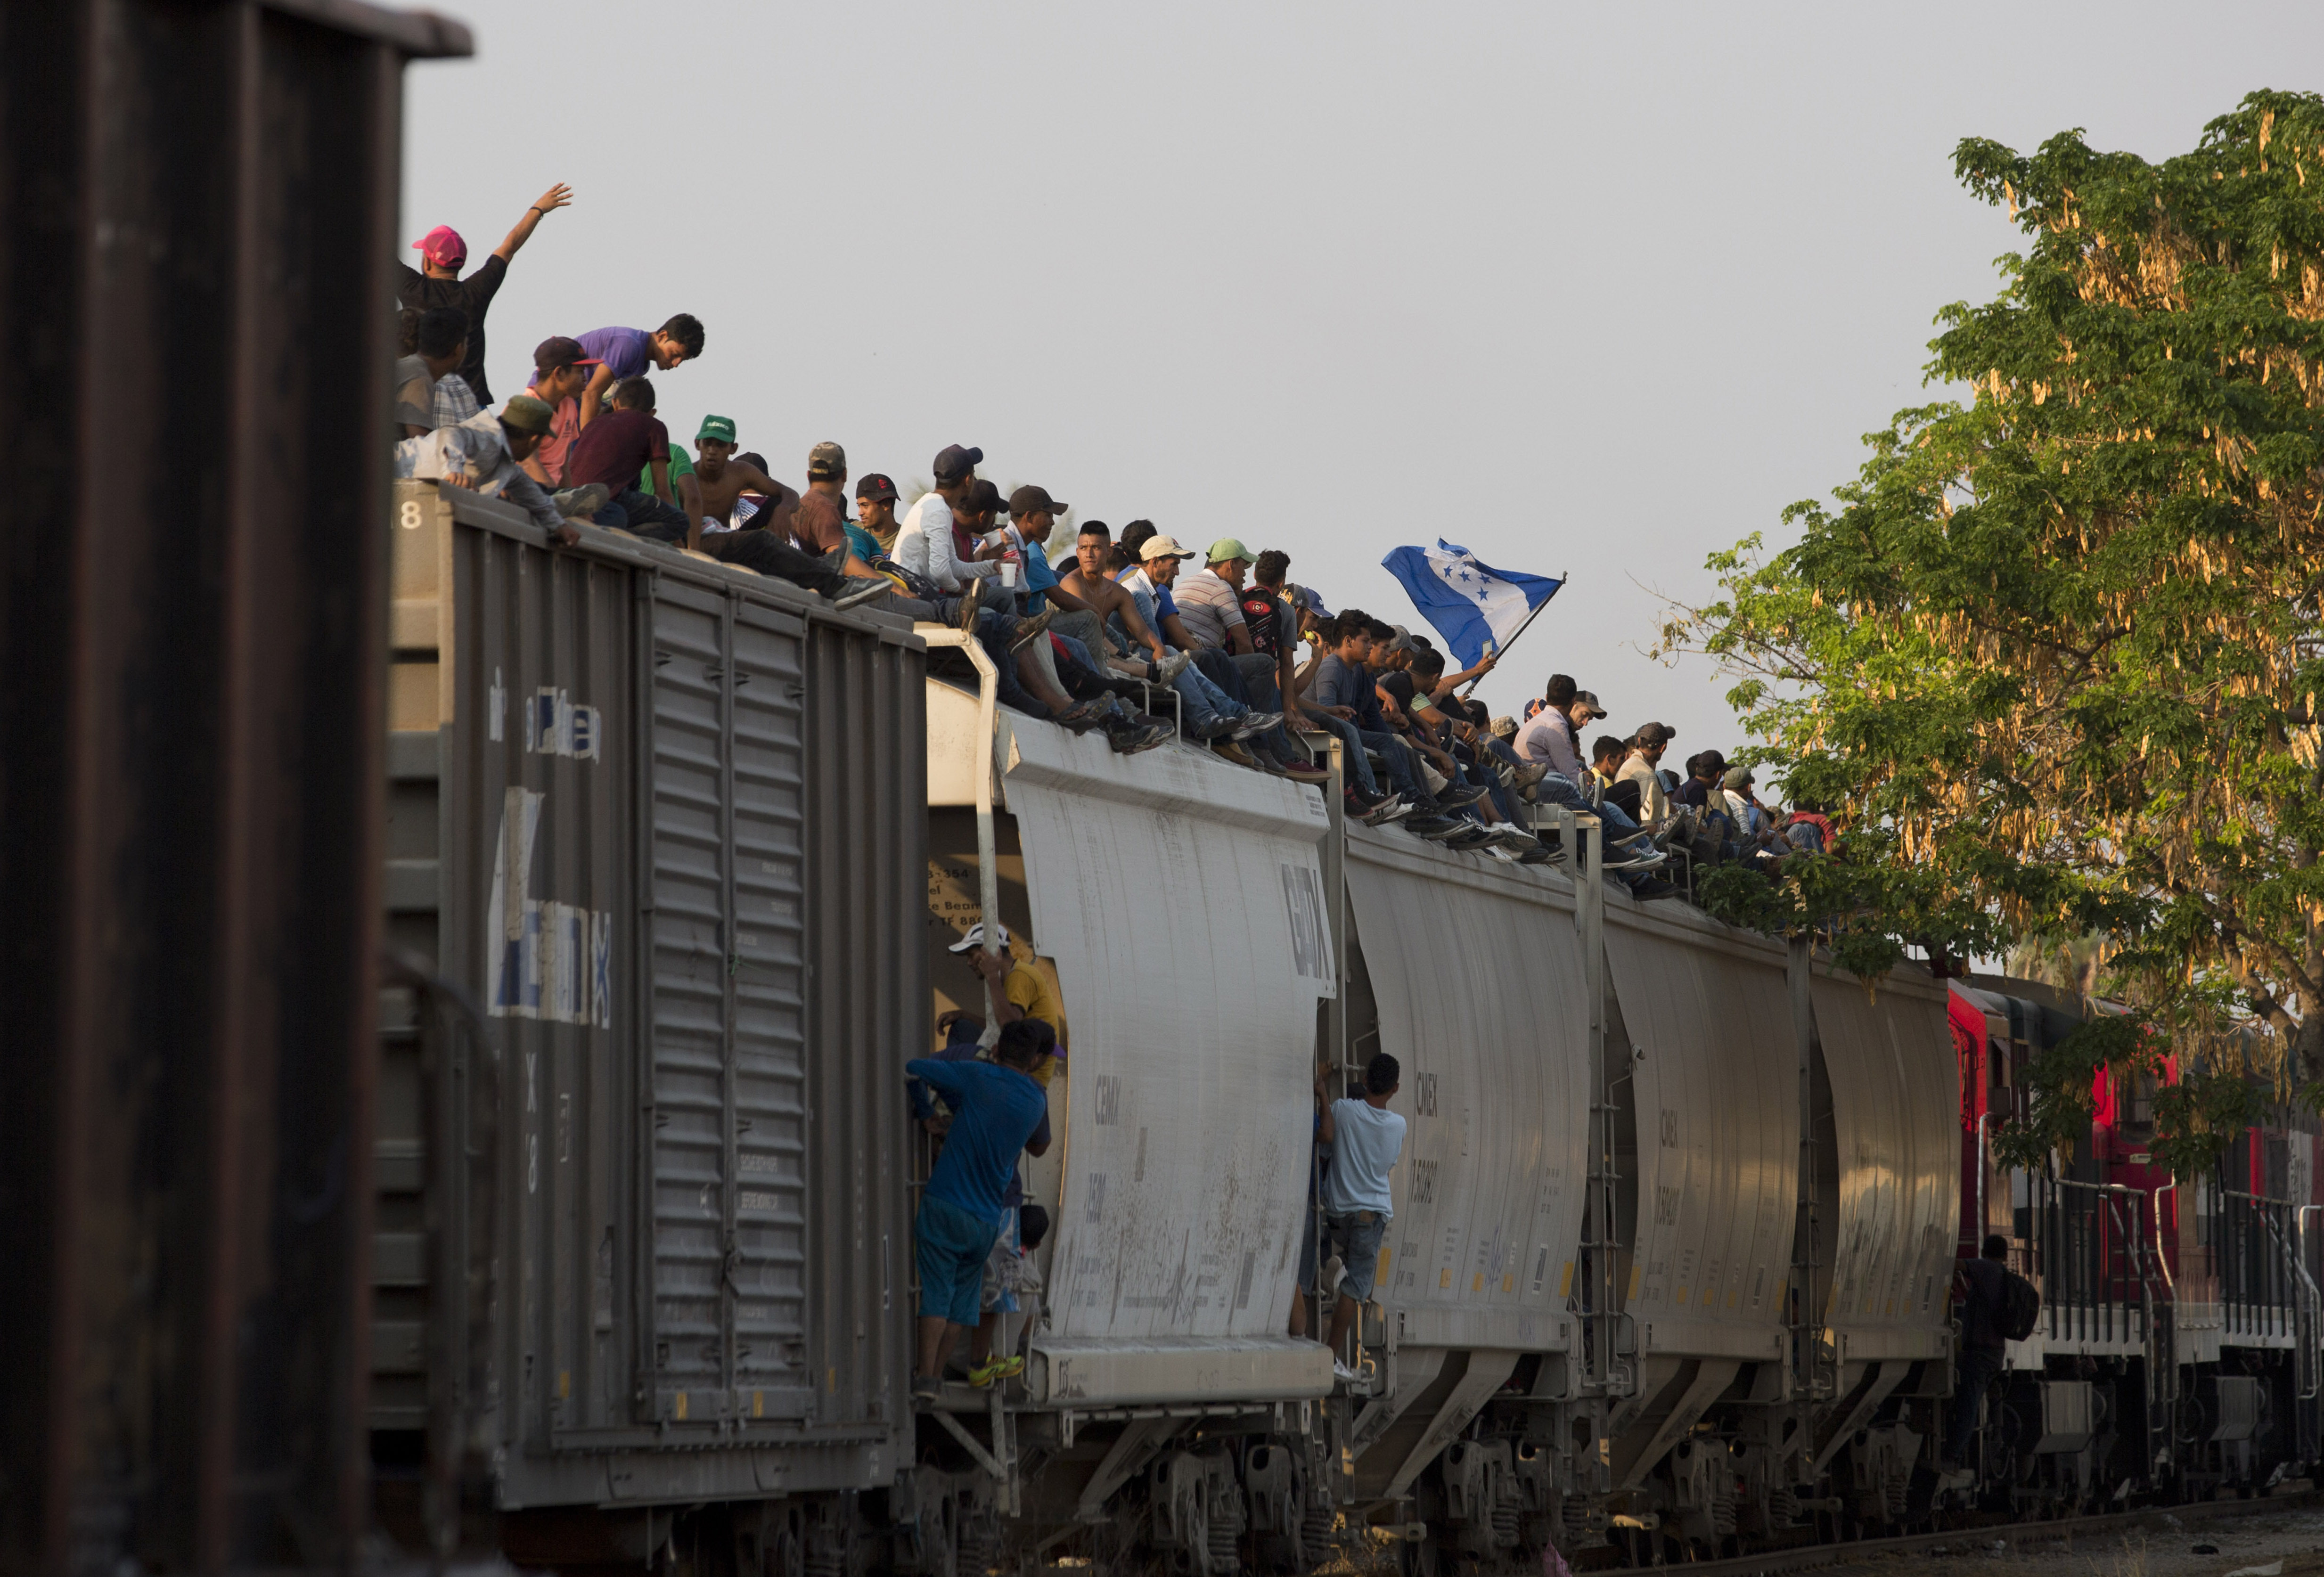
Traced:
[[0, 1570], [344, 1565], [400, 67], [0, 7]]

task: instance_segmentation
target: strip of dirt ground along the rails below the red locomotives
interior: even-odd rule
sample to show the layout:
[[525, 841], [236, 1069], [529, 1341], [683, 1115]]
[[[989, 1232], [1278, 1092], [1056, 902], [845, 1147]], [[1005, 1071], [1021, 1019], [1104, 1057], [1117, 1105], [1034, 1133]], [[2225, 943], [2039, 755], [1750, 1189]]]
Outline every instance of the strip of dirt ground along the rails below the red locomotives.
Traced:
[[[2215, 1547], [2217, 1554], [2196, 1554], [2203, 1547]], [[2275, 1572], [2250, 1572], [2278, 1561], [2282, 1565]], [[2006, 1531], [1987, 1531], [1964, 1535], [1945, 1554], [1892, 1554], [1815, 1570], [1864, 1577], [2324, 1577], [2324, 1507], [2217, 1521], [2157, 1514], [2157, 1526], [2027, 1542]]]

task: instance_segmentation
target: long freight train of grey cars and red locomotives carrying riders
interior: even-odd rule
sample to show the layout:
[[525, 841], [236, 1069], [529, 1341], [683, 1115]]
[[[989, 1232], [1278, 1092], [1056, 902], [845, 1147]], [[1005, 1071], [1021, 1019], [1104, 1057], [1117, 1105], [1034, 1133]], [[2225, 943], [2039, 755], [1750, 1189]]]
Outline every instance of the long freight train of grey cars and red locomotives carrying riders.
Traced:
[[[372, 1454], [411, 1549], [790, 1577], [1645, 1565], [2259, 1493], [2317, 1459], [2315, 1124], [1992, 1159], [2080, 1008], [1506, 866], [978, 650], [395, 497]], [[902, 1068], [1006, 922], [1064, 1003], [1025, 1373], [906, 1394]], [[990, 934], [990, 931], [988, 931]], [[1355, 1380], [1285, 1333], [1313, 1071], [1404, 1068]], [[1964, 1456], [1952, 1280], [2045, 1296]]]

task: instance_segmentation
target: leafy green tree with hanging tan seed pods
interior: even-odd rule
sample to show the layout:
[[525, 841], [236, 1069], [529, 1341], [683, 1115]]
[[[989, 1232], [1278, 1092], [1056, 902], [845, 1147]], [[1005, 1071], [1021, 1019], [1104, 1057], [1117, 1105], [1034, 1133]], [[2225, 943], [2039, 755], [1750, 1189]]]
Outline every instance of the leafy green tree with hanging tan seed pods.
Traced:
[[1715, 555], [1664, 648], [1841, 815], [1859, 950], [2103, 931], [2154, 1034], [2085, 1050], [2175, 1052], [2182, 1119], [2226, 1122], [2201, 1082], [2243, 1027], [2324, 1080], [2324, 98], [2252, 93], [2164, 163], [2064, 132], [1954, 167], [2029, 237], [1938, 314], [1929, 381], [1968, 397], [1871, 434], [1799, 546]]

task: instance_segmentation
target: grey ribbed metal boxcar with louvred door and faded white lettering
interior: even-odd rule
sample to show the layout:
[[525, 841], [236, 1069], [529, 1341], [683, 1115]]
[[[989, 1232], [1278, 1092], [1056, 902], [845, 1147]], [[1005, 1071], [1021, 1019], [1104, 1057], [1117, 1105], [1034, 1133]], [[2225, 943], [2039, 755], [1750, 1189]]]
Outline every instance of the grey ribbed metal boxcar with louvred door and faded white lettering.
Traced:
[[[414, 801], [407, 885], [437, 876], [507, 1112], [472, 1391], [514, 1447], [502, 1500], [885, 1482], [927, 1043], [918, 643], [616, 537], [544, 550], [488, 499], [402, 485], [397, 518], [397, 755], [423, 722], [449, 741], [442, 862]], [[425, 1319], [425, 1289], [379, 1296]], [[374, 1424], [414, 1426], [416, 1359], [379, 1366], [402, 1410]]]

